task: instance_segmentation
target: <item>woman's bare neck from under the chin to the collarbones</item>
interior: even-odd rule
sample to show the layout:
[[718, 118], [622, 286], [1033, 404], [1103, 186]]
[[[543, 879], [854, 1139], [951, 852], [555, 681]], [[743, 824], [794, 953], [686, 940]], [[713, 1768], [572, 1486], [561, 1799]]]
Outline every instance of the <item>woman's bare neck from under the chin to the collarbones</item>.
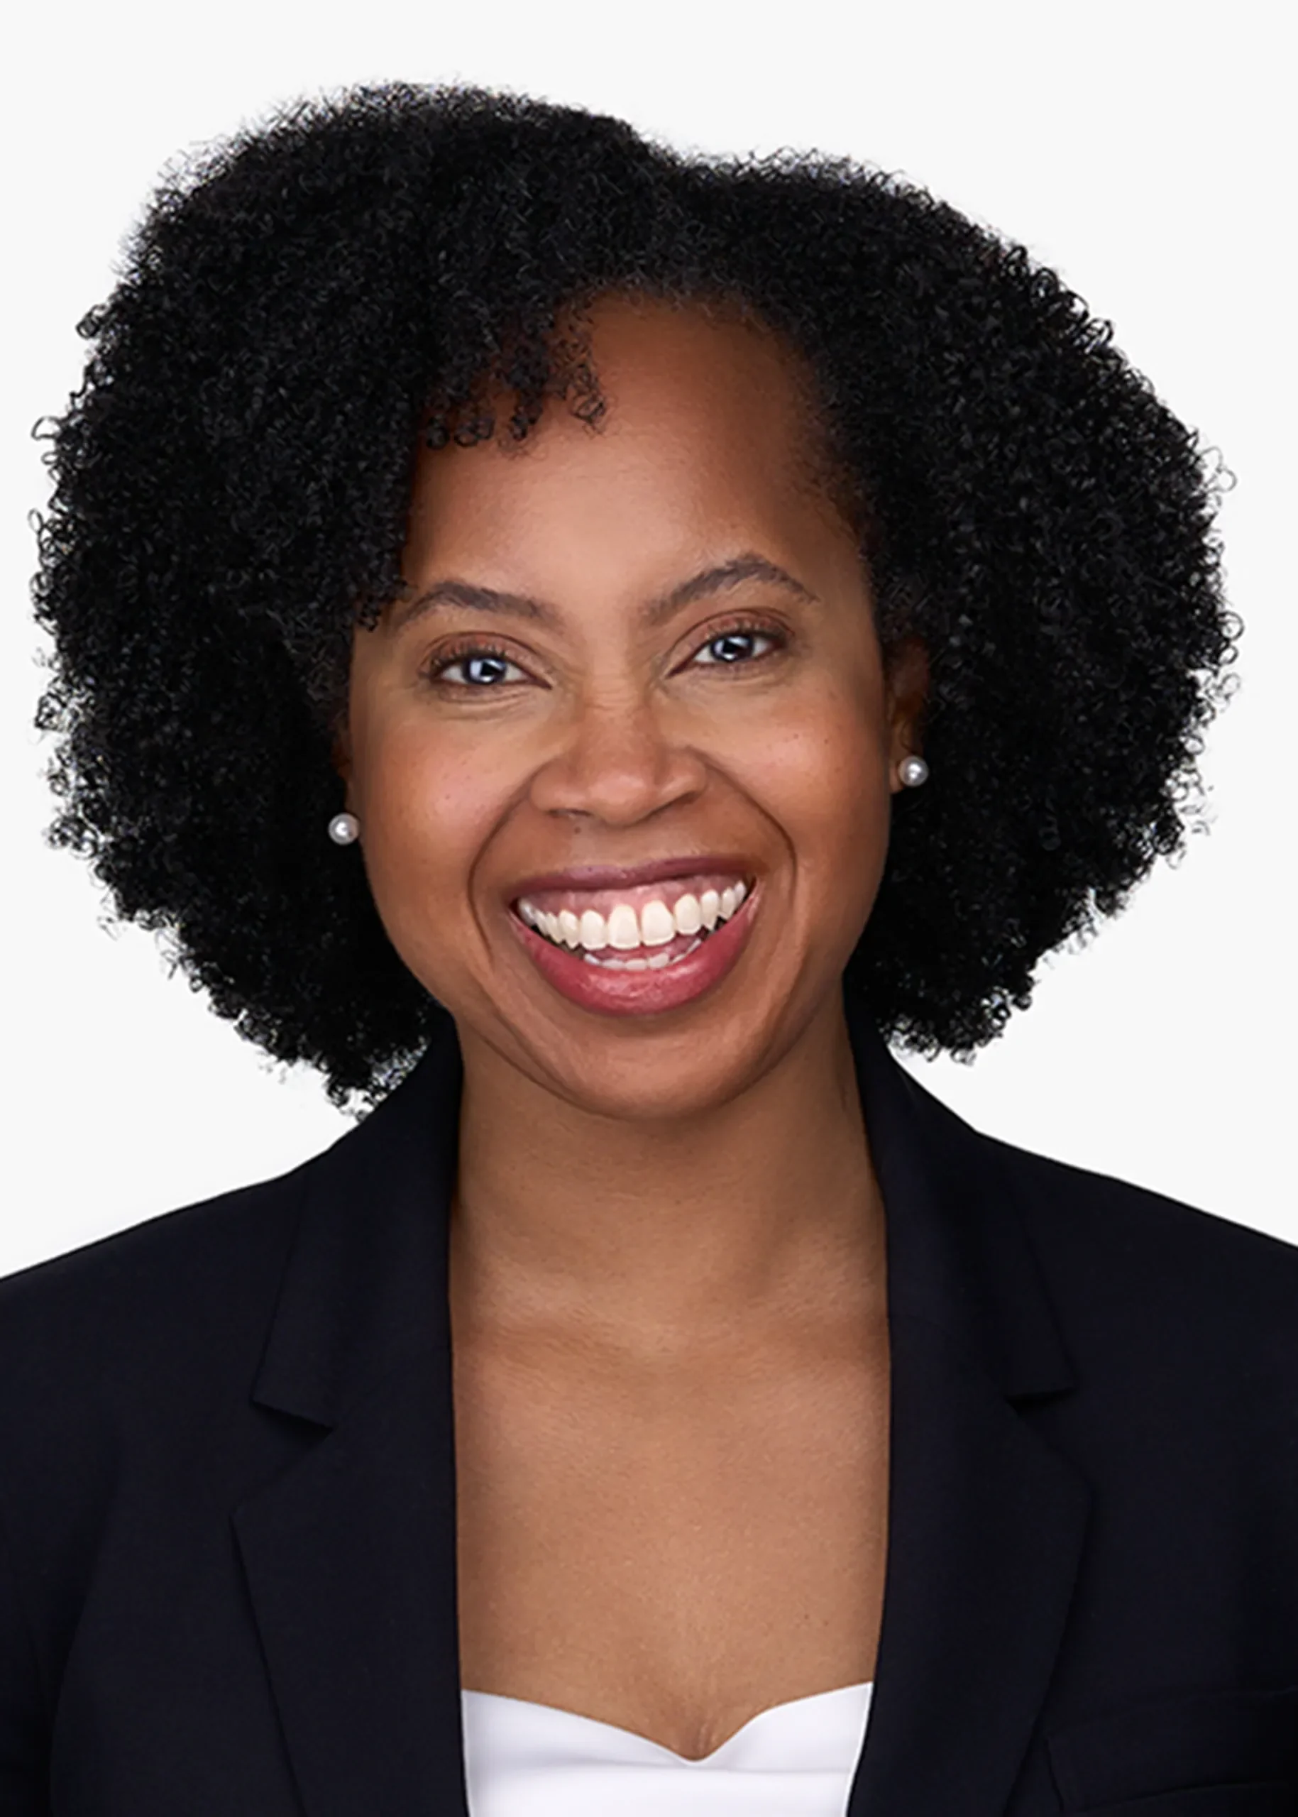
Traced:
[[671, 1123], [593, 1116], [485, 1043], [462, 1048], [464, 1317], [662, 1354], [882, 1306], [882, 1201], [838, 994], [745, 1092]]

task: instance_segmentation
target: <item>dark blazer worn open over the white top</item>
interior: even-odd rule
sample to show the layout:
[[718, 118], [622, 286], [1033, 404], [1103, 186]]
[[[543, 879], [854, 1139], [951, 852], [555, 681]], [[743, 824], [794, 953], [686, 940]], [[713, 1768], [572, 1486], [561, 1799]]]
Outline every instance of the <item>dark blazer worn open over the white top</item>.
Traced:
[[[1298, 1248], [851, 1030], [893, 1332], [851, 1817], [1293, 1817]], [[458, 1094], [447, 1025], [296, 1172], [0, 1283], [4, 1817], [464, 1817]]]

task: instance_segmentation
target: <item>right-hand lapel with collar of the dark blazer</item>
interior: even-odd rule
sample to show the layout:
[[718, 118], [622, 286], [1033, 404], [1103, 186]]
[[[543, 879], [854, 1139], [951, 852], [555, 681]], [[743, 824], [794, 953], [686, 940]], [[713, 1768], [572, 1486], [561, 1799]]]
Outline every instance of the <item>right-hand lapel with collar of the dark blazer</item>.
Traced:
[[1045, 1697], [1089, 1490], [1016, 1403], [1073, 1370], [994, 1145], [849, 1007], [887, 1212], [884, 1626], [849, 1817], [1000, 1817]]

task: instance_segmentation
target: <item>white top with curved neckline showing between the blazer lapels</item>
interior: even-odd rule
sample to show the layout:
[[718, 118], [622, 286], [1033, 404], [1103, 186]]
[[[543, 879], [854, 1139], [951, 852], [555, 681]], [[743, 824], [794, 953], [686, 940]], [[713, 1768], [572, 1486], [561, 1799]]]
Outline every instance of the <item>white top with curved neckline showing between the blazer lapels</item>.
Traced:
[[571, 1710], [462, 1692], [471, 1817], [844, 1817], [873, 1684], [762, 1710], [702, 1761]]

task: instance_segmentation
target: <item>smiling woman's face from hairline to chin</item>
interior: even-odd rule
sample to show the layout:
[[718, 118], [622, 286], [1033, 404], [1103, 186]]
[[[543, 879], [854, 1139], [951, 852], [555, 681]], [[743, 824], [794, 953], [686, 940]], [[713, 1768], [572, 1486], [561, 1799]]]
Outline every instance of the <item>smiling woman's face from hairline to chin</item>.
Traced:
[[598, 429], [551, 403], [420, 452], [338, 763], [465, 1065], [678, 1117], [836, 1014], [924, 663], [885, 670], [780, 343], [644, 300], [591, 325]]

